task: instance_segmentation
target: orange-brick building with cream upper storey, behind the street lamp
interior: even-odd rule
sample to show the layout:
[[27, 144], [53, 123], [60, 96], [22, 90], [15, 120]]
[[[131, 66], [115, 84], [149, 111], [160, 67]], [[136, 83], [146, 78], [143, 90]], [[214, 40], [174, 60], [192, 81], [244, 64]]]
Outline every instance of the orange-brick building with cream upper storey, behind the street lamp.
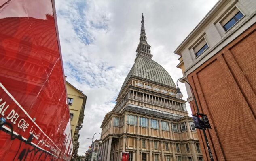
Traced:
[[[206, 133], [215, 161], [256, 160], [255, 14], [255, 0], [220, 0], [175, 50], [177, 67], [212, 126]], [[210, 160], [203, 133], [197, 133], [204, 160]]]

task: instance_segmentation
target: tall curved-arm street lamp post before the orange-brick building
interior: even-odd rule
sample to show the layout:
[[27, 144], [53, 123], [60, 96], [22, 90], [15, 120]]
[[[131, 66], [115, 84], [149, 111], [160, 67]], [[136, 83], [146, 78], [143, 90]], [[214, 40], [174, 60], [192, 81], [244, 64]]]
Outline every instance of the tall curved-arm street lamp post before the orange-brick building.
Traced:
[[[188, 81], [186, 81], [185, 79], [180, 78], [180, 79], [178, 79], [177, 82], [176, 82], [176, 84], [177, 84], [176, 98], [179, 98], [179, 99], [180, 99], [180, 98], [183, 97], [183, 95], [182, 95], [182, 93], [181, 93], [181, 91], [180, 91], [180, 88], [178, 87], [178, 81], [179, 81], [179, 80], [183, 80], [183, 81], [185, 81], [186, 83], [188, 83]], [[195, 105], [196, 105], [196, 107], [197, 107], [197, 113], [200, 113], [200, 112], [199, 112], [199, 107], [198, 107], [198, 105], [197, 105], [197, 99], [196, 99], [196, 97], [195, 97], [193, 88], [192, 88], [192, 86], [190, 85], [190, 83], [188, 83], [188, 85], [190, 86], [190, 89], [191, 89], [192, 95], [193, 95], [193, 99], [195, 100]], [[207, 149], [208, 149], [208, 153], [209, 153], [210, 159], [211, 159], [211, 161], [214, 161], [214, 159], [213, 159], [213, 157], [212, 157], [212, 151], [211, 151], [211, 149], [210, 149], [210, 144], [209, 144], [209, 142], [208, 142], [208, 139], [207, 139], [207, 136], [206, 136], [206, 132], [205, 132], [206, 128], [203, 128], [202, 130], [203, 130], [203, 135], [204, 135], [204, 138], [205, 138], [205, 142], [206, 142], [206, 146], [207, 146]]]

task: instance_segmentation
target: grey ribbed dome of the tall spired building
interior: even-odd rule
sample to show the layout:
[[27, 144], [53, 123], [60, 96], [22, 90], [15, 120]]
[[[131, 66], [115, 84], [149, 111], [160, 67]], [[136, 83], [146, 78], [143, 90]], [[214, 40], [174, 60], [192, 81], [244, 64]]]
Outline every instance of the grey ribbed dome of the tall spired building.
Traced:
[[157, 62], [146, 56], [138, 55], [120, 91], [125, 87], [131, 76], [176, 88], [168, 72]]

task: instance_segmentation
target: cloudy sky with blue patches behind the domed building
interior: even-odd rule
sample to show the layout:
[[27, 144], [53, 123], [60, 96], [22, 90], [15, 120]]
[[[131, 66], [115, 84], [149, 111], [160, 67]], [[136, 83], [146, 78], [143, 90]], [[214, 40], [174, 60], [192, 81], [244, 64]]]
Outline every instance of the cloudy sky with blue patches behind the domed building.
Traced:
[[[217, 0], [55, 0], [64, 62], [69, 81], [87, 95], [85, 118], [80, 131], [79, 155], [101, 132], [106, 113], [134, 63], [144, 14], [153, 60], [176, 82], [179, 56], [173, 51], [203, 19]], [[183, 83], [180, 88], [186, 100]], [[187, 105], [187, 108], [190, 108]], [[189, 113], [191, 113], [191, 110]], [[96, 134], [95, 139], [100, 135]]]

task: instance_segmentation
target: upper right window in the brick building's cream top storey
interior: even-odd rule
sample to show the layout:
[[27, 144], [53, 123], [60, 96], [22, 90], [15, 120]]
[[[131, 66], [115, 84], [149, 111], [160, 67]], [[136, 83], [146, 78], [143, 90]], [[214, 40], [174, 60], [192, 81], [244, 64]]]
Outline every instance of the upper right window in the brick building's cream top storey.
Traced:
[[237, 21], [243, 17], [243, 14], [235, 7], [227, 16], [224, 18], [220, 24], [225, 31], [230, 29]]

